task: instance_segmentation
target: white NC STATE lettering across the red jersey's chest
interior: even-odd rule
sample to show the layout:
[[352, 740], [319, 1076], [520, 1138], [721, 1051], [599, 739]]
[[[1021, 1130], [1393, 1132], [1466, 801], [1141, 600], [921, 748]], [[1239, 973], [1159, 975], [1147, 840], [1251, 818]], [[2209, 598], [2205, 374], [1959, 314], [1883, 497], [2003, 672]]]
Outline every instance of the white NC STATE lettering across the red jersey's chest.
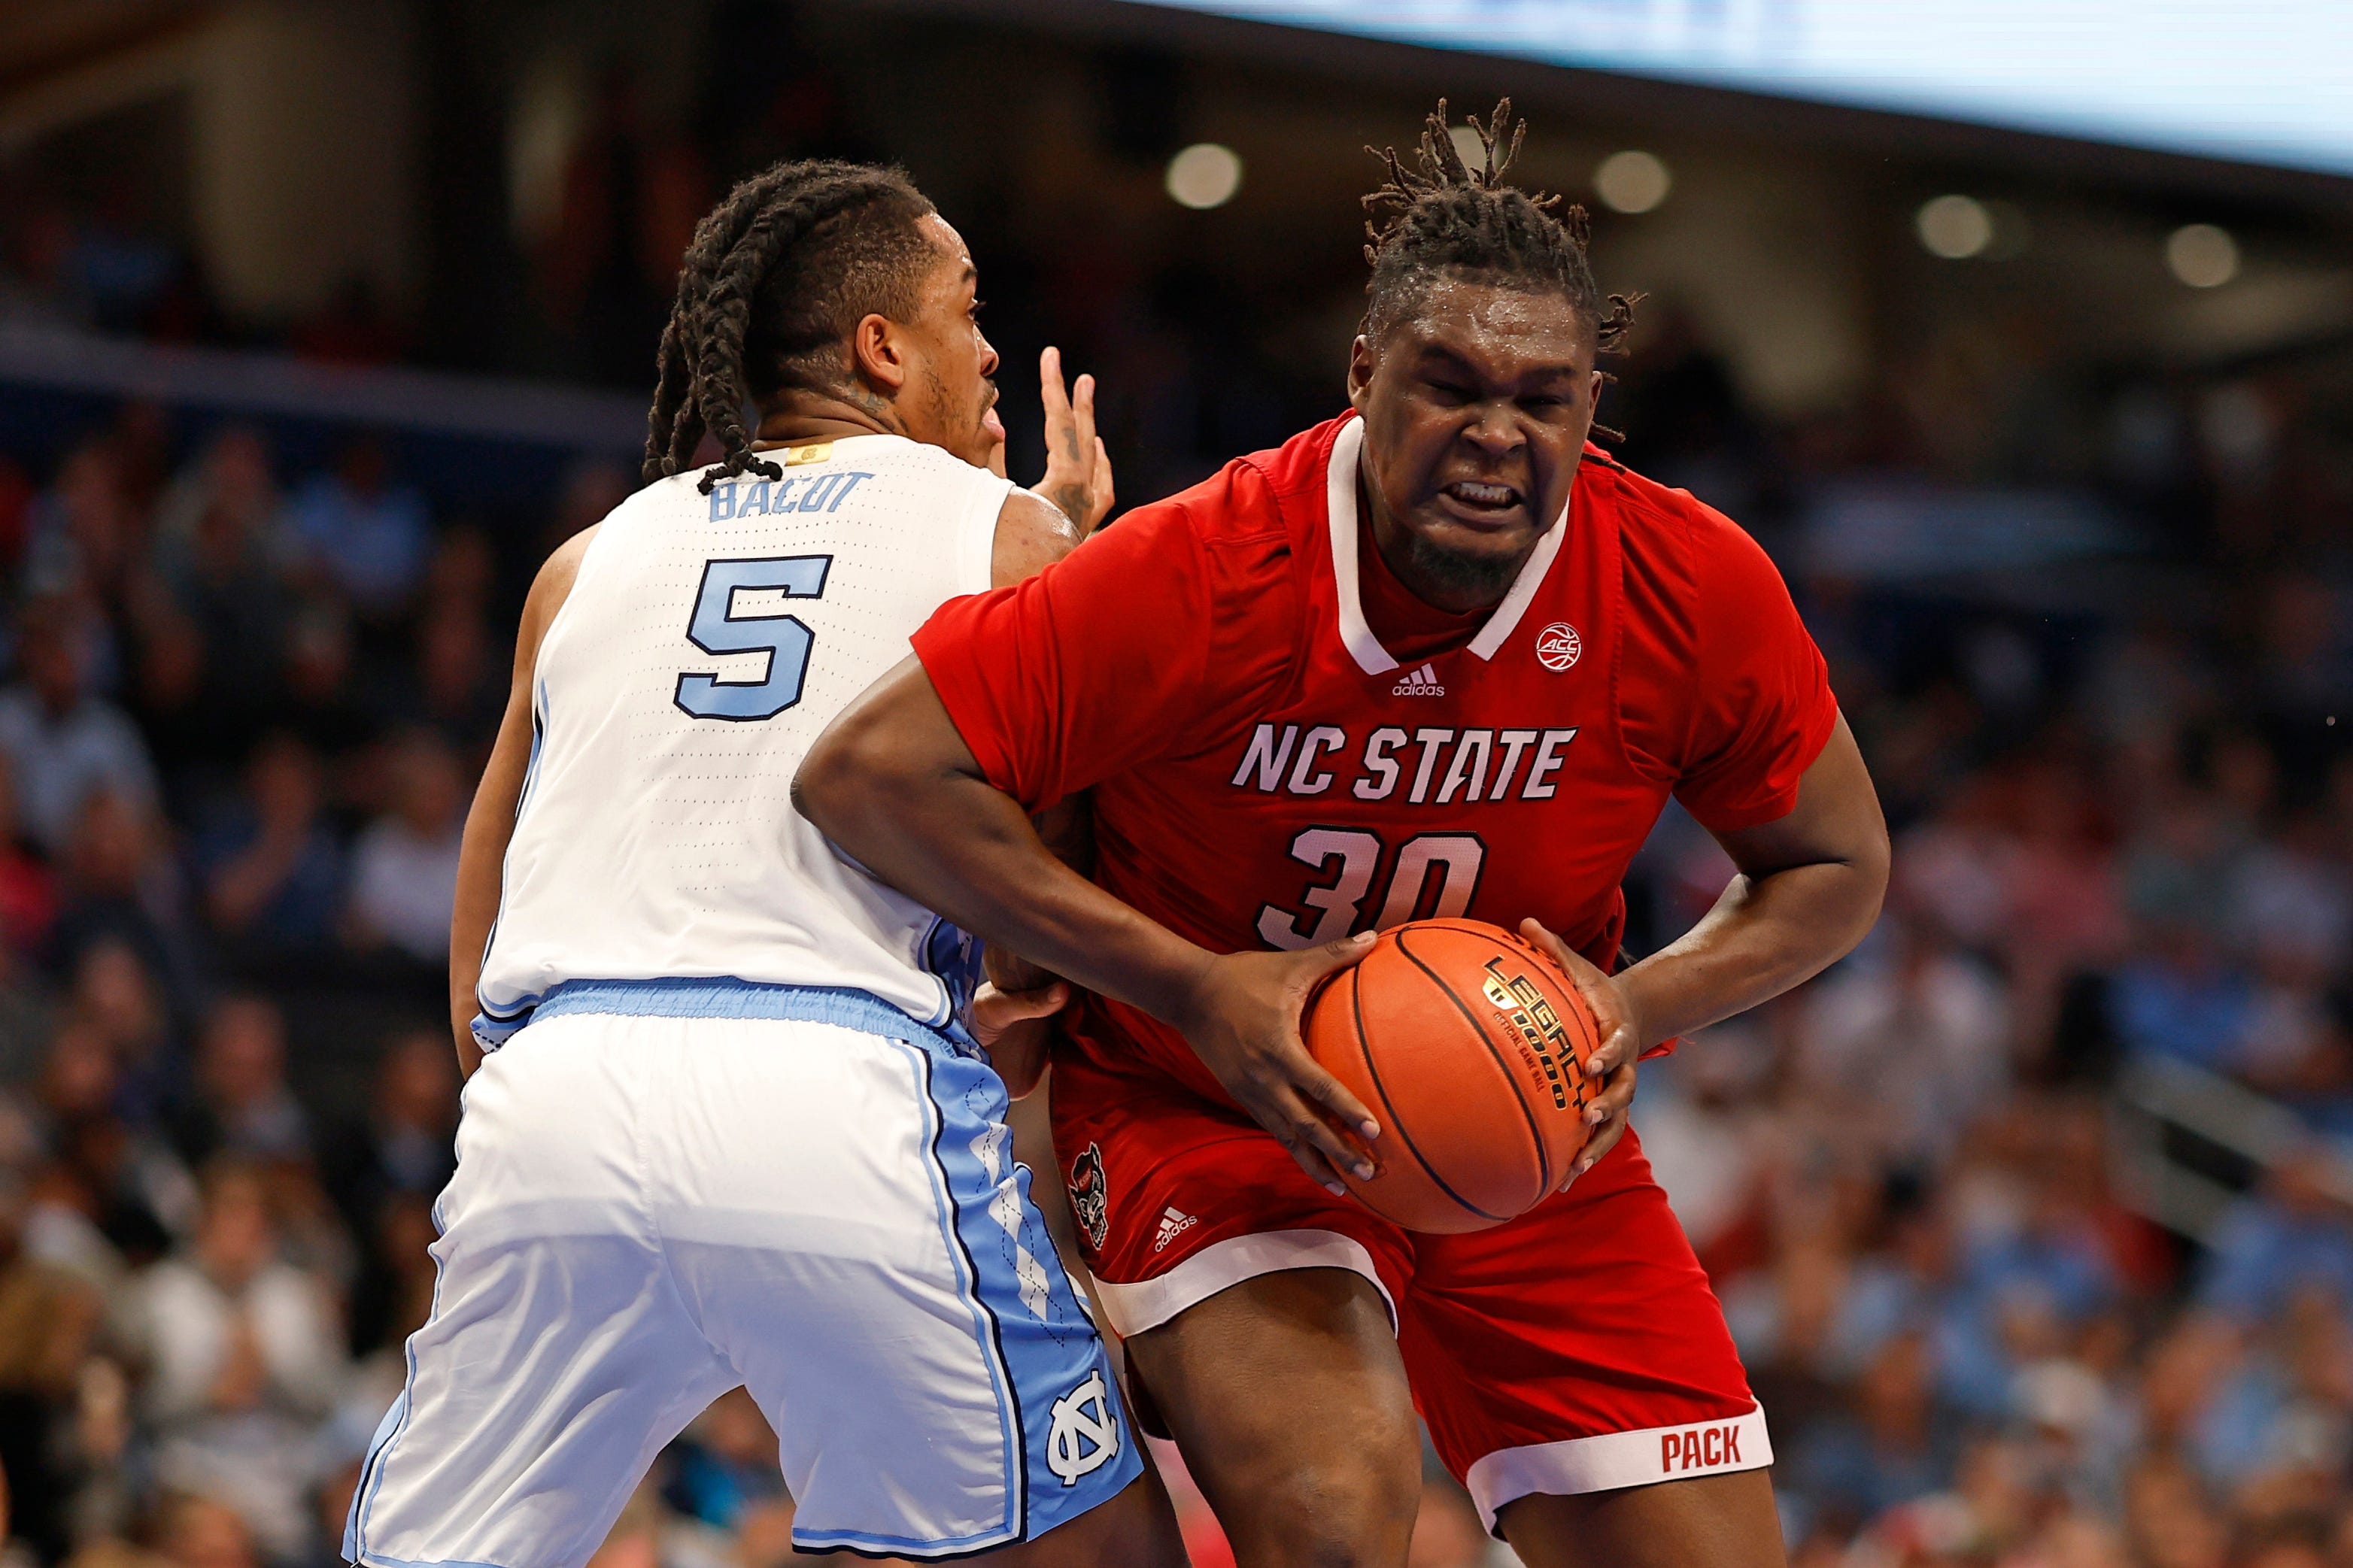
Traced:
[[1400, 729], [1362, 745], [1339, 724], [1259, 724], [1233, 769], [1238, 790], [1405, 799], [1412, 806], [1553, 799], [1562, 750], [1577, 729]]

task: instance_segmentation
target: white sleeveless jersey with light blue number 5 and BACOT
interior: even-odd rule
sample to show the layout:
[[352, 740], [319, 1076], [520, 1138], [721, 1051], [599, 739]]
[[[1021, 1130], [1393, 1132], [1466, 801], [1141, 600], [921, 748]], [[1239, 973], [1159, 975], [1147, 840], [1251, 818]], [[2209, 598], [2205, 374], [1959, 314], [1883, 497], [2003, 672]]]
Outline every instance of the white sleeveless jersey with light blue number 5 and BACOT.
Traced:
[[974, 947], [845, 863], [793, 771], [946, 599], [988, 588], [1012, 489], [896, 435], [699, 470], [605, 520], [539, 646], [532, 762], [475, 1034], [567, 980], [854, 987], [953, 1020]]

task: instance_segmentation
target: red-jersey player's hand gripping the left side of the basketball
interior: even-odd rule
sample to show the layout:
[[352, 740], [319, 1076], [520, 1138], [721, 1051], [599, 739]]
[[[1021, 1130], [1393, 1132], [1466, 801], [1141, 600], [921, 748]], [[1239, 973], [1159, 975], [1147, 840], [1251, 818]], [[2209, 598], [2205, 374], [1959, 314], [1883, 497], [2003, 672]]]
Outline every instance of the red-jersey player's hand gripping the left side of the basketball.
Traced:
[[1339, 1171], [1369, 1180], [1381, 1126], [1346, 1084], [1322, 1070], [1299, 1039], [1315, 983], [1372, 950], [1372, 933], [1301, 952], [1228, 952], [1209, 959], [1184, 1013], [1169, 1023], [1217, 1074], [1233, 1103], [1275, 1135], [1299, 1168], [1332, 1194]]

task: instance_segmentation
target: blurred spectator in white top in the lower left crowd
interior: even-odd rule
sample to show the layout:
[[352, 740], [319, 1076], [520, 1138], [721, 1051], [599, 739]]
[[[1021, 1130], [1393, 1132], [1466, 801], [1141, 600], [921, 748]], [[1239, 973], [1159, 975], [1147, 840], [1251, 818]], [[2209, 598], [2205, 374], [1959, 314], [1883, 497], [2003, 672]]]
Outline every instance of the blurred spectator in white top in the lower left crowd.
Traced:
[[141, 1274], [122, 1331], [148, 1363], [160, 1479], [231, 1505], [287, 1563], [308, 1547], [308, 1436], [344, 1352], [327, 1291], [275, 1251], [261, 1175], [214, 1166], [191, 1246]]

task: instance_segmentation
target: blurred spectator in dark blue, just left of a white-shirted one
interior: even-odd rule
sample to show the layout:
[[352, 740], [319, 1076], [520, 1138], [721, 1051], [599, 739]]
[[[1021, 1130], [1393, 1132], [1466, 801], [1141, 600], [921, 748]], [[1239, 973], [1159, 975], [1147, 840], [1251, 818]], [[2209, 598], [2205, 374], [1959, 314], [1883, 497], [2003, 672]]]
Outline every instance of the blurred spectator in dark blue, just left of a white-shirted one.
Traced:
[[325, 816], [318, 757], [273, 733], [245, 766], [245, 795], [216, 813], [191, 851], [212, 926], [264, 954], [332, 943], [344, 905], [344, 846]]

